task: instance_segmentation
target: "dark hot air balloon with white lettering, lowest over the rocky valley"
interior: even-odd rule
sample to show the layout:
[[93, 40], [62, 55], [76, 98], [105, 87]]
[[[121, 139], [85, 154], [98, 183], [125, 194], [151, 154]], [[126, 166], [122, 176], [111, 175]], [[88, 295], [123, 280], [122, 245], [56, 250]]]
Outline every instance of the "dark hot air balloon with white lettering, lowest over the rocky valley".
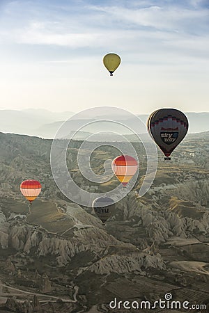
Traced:
[[105, 222], [108, 220], [114, 210], [115, 204], [114, 200], [109, 197], [103, 196], [93, 200], [92, 207], [95, 211], [95, 214], [98, 216], [98, 218], [100, 218], [100, 220], [102, 220], [102, 223], [105, 225]]

